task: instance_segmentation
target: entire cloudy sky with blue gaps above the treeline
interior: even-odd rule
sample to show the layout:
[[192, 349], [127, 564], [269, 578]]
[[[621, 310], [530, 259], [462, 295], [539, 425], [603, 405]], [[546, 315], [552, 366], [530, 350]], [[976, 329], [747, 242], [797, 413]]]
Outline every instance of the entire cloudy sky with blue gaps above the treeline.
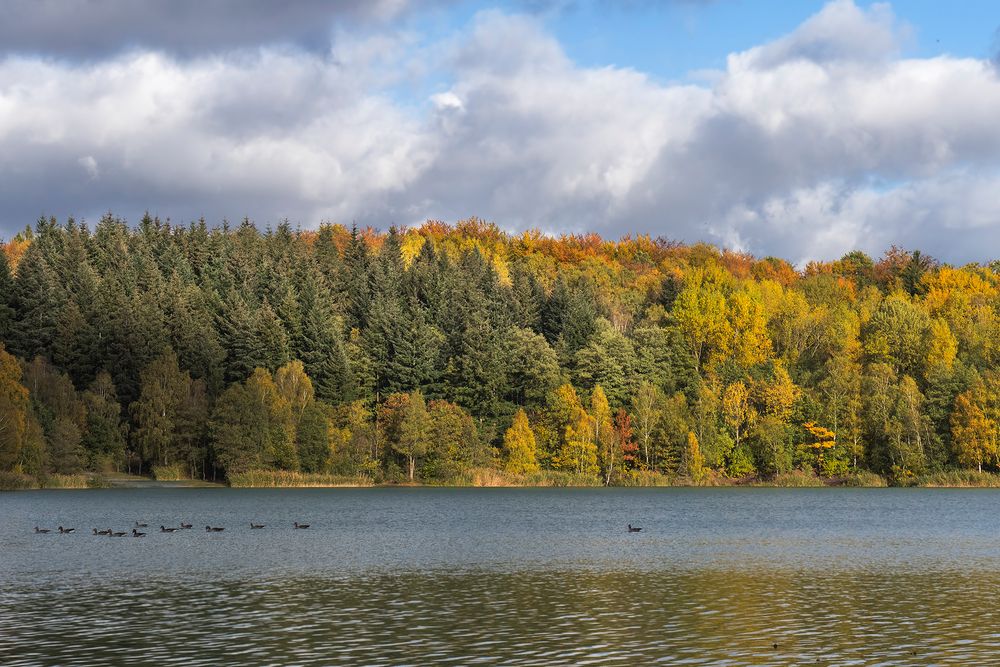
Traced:
[[[287, 6], [284, 6], [286, 5]], [[988, 0], [6, 0], [0, 237], [39, 216], [1000, 258]]]

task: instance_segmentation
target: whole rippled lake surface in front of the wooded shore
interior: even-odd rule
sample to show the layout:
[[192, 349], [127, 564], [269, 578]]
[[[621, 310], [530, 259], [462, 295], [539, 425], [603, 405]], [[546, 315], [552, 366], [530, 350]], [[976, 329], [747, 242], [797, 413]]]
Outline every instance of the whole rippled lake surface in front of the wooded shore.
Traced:
[[[0, 664], [996, 664], [998, 508], [934, 489], [6, 493]], [[92, 534], [136, 520], [147, 537]]]

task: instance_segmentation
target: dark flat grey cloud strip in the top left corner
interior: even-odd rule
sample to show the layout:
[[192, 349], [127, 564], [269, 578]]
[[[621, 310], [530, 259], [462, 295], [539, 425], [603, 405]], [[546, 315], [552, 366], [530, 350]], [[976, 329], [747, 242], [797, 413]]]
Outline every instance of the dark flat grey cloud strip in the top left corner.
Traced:
[[392, 19], [407, 0], [6, 0], [0, 51], [70, 58], [182, 55], [288, 43], [329, 46], [338, 21]]

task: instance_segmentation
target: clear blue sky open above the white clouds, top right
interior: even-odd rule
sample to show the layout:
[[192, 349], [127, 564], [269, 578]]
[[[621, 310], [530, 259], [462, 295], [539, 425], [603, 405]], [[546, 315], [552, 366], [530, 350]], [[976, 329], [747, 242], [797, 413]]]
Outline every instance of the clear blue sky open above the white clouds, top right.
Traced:
[[[657, 2], [461, 2], [415, 17], [418, 30], [443, 37], [482, 11], [539, 16], [574, 62], [585, 67], [631, 67], [664, 81], [686, 80], [700, 70], [723, 69], [726, 57], [771, 41], [819, 12], [825, 2], [805, 0], [680, 0]], [[858, 2], [887, 4], [912, 28], [903, 55], [988, 58], [997, 50], [1000, 7], [988, 0]]]

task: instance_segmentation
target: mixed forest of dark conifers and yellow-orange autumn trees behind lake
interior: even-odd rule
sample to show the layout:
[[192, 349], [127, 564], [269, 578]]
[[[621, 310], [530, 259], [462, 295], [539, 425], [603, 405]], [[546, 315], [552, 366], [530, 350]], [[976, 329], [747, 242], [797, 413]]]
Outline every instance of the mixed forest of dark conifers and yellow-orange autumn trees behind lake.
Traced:
[[918, 483], [1000, 463], [1000, 264], [664, 238], [41, 219], [0, 474]]

